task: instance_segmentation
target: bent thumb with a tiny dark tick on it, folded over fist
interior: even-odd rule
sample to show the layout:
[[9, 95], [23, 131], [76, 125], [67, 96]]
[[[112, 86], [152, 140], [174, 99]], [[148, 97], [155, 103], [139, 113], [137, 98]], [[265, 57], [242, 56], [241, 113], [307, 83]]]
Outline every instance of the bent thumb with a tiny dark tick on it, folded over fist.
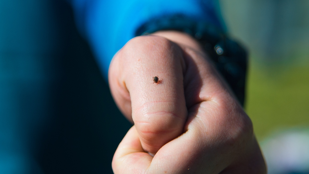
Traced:
[[183, 133], [184, 66], [180, 47], [159, 36], [133, 38], [111, 62], [112, 95], [134, 122], [143, 149], [151, 154]]

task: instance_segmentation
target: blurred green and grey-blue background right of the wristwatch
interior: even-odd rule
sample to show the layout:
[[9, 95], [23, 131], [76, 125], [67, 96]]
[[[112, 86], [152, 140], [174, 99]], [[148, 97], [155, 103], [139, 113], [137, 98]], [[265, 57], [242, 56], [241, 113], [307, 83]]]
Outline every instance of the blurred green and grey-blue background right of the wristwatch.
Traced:
[[259, 141], [309, 126], [309, 1], [219, 0], [228, 33], [249, 50], [245, 110]]

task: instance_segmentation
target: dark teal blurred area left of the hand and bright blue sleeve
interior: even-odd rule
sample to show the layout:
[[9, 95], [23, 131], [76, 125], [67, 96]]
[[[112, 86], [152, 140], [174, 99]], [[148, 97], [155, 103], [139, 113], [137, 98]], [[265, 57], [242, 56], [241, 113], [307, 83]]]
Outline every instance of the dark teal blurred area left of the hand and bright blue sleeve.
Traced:
[[68, 3], [0, 1], [0, 173], [112, 173], [130, 127]]

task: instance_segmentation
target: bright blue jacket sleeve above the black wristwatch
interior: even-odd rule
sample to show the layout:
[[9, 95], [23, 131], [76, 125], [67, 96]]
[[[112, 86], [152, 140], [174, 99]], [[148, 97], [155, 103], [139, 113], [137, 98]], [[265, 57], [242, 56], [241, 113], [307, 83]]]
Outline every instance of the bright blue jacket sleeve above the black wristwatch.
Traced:
[[78, 28], [88, 39], [104, 77], [114, 54], [149, 19], [182, 14], [222, 28], [213, 0], [71, 0], [71, 3]]

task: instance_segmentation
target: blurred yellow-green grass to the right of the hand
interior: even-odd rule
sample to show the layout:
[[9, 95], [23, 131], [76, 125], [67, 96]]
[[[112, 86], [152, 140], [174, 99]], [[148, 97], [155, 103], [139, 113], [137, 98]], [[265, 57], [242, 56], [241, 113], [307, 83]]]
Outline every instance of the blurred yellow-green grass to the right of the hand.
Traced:
[[273, 130], [309, 126], [309, 64], [250, 62], [245, 110], [259, 141]]

